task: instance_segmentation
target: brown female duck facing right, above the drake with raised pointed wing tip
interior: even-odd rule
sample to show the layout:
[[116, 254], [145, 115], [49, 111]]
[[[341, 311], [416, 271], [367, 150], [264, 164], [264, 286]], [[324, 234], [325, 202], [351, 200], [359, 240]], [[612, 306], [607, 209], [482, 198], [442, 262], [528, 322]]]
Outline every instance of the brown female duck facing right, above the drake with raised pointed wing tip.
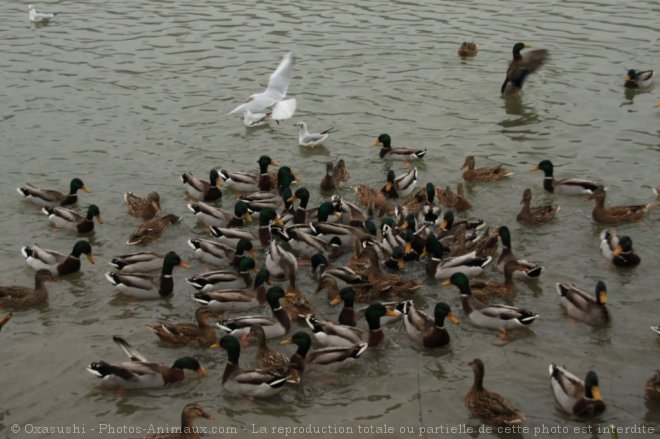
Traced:
[[157, 325], [147, 325], [147, 328], [167, 344], [175, 346], [194, 345], [207, 348], [218, 341], [215, 327], [209, 324], [210, 318], [218, 317], [220, 317], [220, 315], [216, 311], [200, 306], [195, 311], [196, 324], [161, 323]]

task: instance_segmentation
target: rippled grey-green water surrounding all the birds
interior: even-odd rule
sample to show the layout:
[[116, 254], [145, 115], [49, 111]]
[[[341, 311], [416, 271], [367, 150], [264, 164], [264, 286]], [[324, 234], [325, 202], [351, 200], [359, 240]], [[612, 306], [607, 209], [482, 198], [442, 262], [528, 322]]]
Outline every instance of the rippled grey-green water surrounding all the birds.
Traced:
[[[603, 181], [611, 204], [652, 199], [649, 188], [660, 183], [657, 94], [626, 94], [622, 83], [628, 68], [657, 67], [656, 2], [139, 0], [37, 8], [60, 15], [34, 28], [26, 5], [0, 3], [2, 283], [32, 283], [33, 272], [18, 253], [22, 245], [66, 251], [76, 239], [66, 231], [51, 234], [46, 218], [14, 187], [30, 181], [64, 188], [79, 176], [92, 190], [81, 204], [98, 204], [106, 224], [90, 239], [97, 264], [83, 261], [81, 275], [50, 285], [48, 307], [17, 312], [0, 334], [0, 431], [24, 437], [25, 428], [11, 435], [10, 426], [76, 423], [98, 436], [102, 423], [174, 426], [189, 401], [216, 417], [199, 425], [235, 426], [239, 437], [254, 436], [260, 426], [308, 424], [387, 424], [395, 429], [389, 437], [404, 436], [402, 427], [478, 428], [463, 406], [472, 382], [467, 362], [475, 357], [486, 364], [486, 386], [522, 408], [530, 429], [659, 427], [657, 407], [643, 400], [660, 348], [649, 330], [658, 323], [657, 211], [620, 228], [632, 236], [643, 262], [616, 270], [599, 254], [602, 228], [591, 220], [592, 204], [543, 194], [541, 176], [527, 172], [548, 158], [559, 177]], [[456, 56], [463, 40], [479, 44], [476, 58]], [[530, 77], [522, 99], [502, 99], [499, 87], [519, 40], [548, 49], [551, 60]], [[337, 127], [326, 147], [311, 152], [296, 145], [292, 123], [246, 131], [239, 118], [225, 116], [265, 87], [289, 50], [297, 60], [289, 88], [299, 102], [294, 121], [304, 119], [315, 131]], [[541, 315], [533, 333], [515, 335], [503, 346], [496, 334], [462, 316], [459, 327], [449, 328], [451, 348], [426, 352], [393, 326], [387, 350], [369, 352], [353, 368], [310, 371], [300, 389], [258, 402], [223, 391], [224, 352], [193, 349], [210, 376], [163, 390], [117, 395], [85, 372], [91, 361], [122, 360], [113, 334], [166, 363], [191, 351], [161, 345], [145, 325], [192, 318], [195, 305], [183, 278], [201, 271], [200, 263], [192, 260], [191, 270], [175, 272], [174, 297], [163, 301], [118, 297], [103, 277], [111, 257], [131, 250], [124, 242], [137, 222], [126, 215], [124, 191], [157, 190], [163, 210], [183, 216], [150, 248], [174, 249], [190, 260], [185, 242], [203, 230], [185, 208], [182, 172], [206, 175], [211, 166], [255, 171], [257, 157], [267, 153], [292, 166], [318, 203], [316, 189], [329, 159], [347, 160], [350, 184], [382, 184], [389, 164], [368, 145], [383, 132], [398, 145], [429, 149], [419, 165], [423, 182], [455, 184], [468, 154], [478, 165], [503, 163], [516, 172], [507, 182], [469, 187], [475, 206], [470, 215], [508, 224], [517, 254], [546, 267], [538, 284], [518, 288], [516, 304]], [[515, 222], [525, 187], [536, 194], [534, 204], [561, 205], [555, 223], [528, 228]], [[350, 188], [340, 192], [352, 197]], [[233, 195], [224, 198], [229, 208]], [[421, 267], [407, 272], [424, 279]], [[302, 277], [311, 291], [314, 281]], [[567, 320], [554, 292], [557, 281], [590, 290], [596, 279], [608, 286], [613, 324], [606, 329]], [[456, 290], [435, 281], [427, 281], [419, 296], [426, 309], [439, 299], [460, 306]], [[335, 315], [322, 298], [314, 300], [321, 314]], [[249, 363], [251, 353], [242, 362]], [[583, 424], [559, 411], [547, 376], [551, 361], [578, 375], [598, 372], [608, 404], [601, 418]], [[123, 436], [140, 436], [133, 433]]]

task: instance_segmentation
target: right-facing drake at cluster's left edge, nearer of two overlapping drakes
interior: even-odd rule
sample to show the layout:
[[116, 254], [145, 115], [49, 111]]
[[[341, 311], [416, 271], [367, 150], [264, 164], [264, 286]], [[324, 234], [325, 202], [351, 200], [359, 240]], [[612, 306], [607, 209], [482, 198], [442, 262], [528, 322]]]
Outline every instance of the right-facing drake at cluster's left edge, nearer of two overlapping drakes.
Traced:
[[106, 273], [105, 277], [127, 296], [138, 299], [160, 299], [171, 295], [174, 291], [172, 279], [174, 267], [188, 268], [188, 264], [175, 252], [170, 251], [163, 258], [163, 269], [159, 277], [114, 271]]

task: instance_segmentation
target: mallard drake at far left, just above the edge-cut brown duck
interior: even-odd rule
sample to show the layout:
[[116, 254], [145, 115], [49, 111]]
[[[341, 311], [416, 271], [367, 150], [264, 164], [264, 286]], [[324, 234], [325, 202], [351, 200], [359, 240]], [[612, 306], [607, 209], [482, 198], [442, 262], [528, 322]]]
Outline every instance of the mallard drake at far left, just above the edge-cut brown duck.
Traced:
[[87, 241], [78, 241], [73, 245], [69, 255], [55, 250], [42, 249], [37, 244], [21, 248], [25, 262], [35, 270], [45, 268], [58, 276], [80, 271], [80, 255], [85, 254], [90, 264], [94, 264], [92, 246]]

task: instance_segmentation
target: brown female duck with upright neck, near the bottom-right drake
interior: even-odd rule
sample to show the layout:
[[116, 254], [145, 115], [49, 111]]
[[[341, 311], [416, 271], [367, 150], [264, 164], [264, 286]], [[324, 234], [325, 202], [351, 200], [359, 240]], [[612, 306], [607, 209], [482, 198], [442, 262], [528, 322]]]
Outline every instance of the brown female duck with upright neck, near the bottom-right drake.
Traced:
[[484, 388], [484, 363], [478, 358], [468, 363], [474, 372], [474, 383], [465, 395], [465, 407], [472, 416], [499, 426], [520, 424], [523, 414], [499, 393]]

